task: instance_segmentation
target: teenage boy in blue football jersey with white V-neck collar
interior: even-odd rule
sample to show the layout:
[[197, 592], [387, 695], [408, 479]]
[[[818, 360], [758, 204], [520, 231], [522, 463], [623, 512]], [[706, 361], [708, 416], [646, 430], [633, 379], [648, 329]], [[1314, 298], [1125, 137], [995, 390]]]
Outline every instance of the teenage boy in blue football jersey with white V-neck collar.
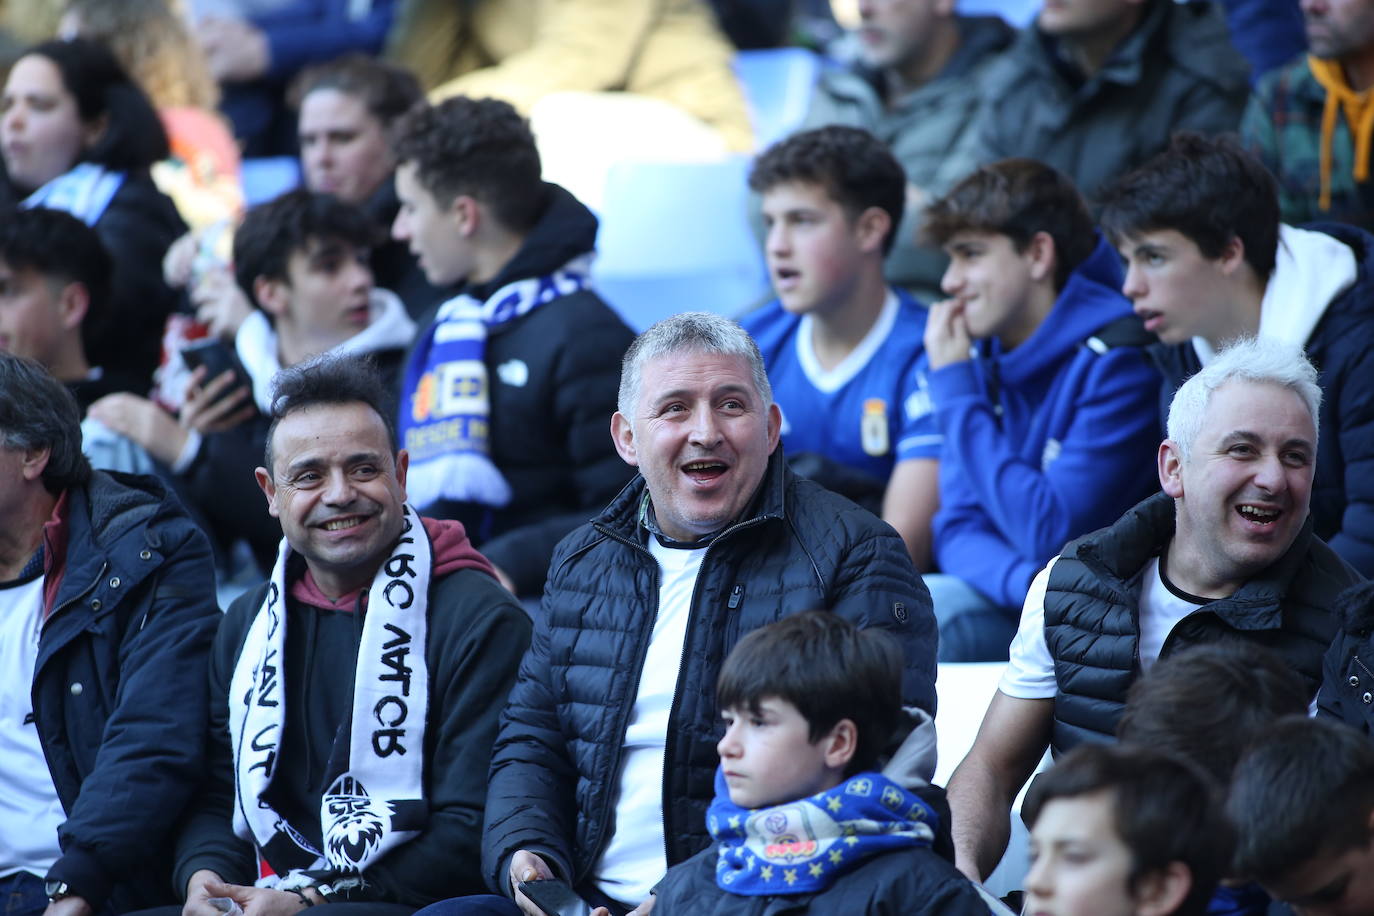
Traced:
[[778, 298], [741, 324], [758, 342], [793, 468], [897, 529], [930, 563], [940, 438], [916, 369], [926, 309], [883, 280], [907, 179], [867, 130], [797, 133], [754, 162]]

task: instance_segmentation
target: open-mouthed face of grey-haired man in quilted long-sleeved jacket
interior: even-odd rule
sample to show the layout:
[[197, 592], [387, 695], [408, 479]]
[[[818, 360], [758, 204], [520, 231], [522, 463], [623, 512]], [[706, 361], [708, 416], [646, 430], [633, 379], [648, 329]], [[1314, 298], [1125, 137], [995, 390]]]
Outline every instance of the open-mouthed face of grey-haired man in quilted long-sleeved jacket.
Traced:
[[633, 416], [617, 411], [611, 437], [644, 475], [660, 529], [692, 541], [745, 511], [780, 426], [745, 357], [688, 350], [644, 363]]

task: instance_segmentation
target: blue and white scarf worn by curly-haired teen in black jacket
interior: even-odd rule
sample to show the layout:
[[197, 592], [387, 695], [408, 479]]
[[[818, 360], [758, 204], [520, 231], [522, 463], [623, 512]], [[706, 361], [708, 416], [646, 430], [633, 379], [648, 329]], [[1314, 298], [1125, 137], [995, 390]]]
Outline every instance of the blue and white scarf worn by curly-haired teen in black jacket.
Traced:
[[486, 335], [589, 288], [591, 262], [591, 253], [581, 254], [545, 276], [507, 283], [485, 302], [462, 294], [438, 308], [411, 353], [401, 397], [401, 445], [411, 456], [405, 490], [415, 505], [510, 503], [510, 483], [491, 459]]

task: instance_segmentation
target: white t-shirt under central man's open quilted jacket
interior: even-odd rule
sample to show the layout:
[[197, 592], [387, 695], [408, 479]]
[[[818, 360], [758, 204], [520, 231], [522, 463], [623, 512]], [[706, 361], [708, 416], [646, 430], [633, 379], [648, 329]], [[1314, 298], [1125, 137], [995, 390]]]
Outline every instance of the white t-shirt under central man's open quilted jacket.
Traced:
[[607, 897], [639, 904], [668, 871], [664, 845], [664, 744], [677, 691], [691, 595], [706, 548], [664, 547], [649, 538], [658, 560], [658, 618], [639, 673], [639, 694], [625, 728], [616, 787], [614, 834], [594, 869]]

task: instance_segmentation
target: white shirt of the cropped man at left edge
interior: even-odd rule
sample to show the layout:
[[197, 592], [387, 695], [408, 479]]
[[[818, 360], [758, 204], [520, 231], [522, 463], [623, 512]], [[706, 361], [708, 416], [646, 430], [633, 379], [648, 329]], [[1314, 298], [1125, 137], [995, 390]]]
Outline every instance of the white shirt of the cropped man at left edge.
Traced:
[[41, 625], [41, 575], [0, 588], [0, 878], [47, 875], [62, 856], [58, 827], [66, 814], [33, 724]]

